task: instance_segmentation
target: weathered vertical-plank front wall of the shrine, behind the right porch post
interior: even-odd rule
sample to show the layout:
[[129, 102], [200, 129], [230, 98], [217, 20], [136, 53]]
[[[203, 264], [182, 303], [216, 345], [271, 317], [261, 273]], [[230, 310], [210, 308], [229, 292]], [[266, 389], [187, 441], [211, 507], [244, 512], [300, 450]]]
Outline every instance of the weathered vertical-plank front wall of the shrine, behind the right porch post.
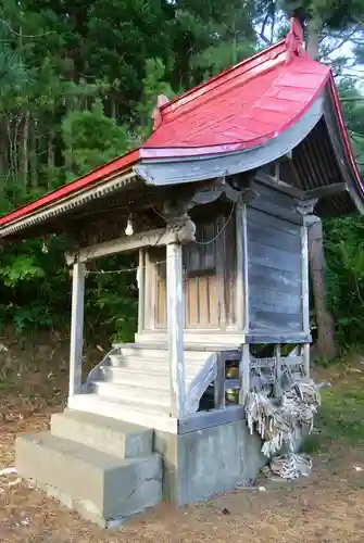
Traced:
[[[236, 229], [231, 216], [197, 220], [197, 243], [183, 248], [185, 328], [224, 330], [236, 324]], [[165, 248], [148, 250], [145, 328], [166, 328]]]

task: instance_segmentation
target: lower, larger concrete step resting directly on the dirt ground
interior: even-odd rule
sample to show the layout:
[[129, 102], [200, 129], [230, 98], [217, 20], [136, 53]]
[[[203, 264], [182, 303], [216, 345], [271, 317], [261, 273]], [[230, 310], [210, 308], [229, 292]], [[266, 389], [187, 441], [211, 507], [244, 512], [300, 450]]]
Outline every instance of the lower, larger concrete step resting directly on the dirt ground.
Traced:
[[160, 455], [122, 459], [52, 435], [16, 440], [21, 477], [102, 527], [153, 507], [162, 500]]

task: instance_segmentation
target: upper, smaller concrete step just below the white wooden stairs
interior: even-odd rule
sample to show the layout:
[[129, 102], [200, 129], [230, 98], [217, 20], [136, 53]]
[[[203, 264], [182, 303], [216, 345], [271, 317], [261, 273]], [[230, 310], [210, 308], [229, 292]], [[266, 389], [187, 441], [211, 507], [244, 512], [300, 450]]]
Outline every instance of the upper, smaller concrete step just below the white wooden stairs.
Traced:
[[52, 415], [51, 433], [121, 458], [152, 454], [153, 430], [91, 413], [65, 409]]

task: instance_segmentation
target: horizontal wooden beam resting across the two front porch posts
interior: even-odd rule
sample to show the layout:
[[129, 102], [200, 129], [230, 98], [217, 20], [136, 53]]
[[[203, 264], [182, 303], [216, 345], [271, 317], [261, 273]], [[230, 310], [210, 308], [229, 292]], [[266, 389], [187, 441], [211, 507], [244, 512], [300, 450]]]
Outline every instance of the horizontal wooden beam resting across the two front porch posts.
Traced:
[[172, 231], [165, 228], [135, 233], [133, 236], [122, 236], [121, 238], [103, 243], [97, 243], [87, 248], [80, 249], [78, 253], [67, 253], [65, 255], [66, 263], [72, 265], [75, 261], [88, 262], [102, 256], [117, 254], [125, 251], [135, 251], [147, 247], [166, 245], [178, 241], [178, 230]]

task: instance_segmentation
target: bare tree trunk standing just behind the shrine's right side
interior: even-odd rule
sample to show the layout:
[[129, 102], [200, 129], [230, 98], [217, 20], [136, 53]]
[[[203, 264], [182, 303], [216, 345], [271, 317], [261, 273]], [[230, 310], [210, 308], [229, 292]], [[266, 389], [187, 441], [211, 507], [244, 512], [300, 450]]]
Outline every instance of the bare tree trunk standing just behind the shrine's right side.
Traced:
[[335, 342], [335, 321], [326, 307], [326, 261], [321, 220], [309, 226], [309, 258], [317, 321], [317, 352], [321, 356], [332, 359], [338, 353]]

